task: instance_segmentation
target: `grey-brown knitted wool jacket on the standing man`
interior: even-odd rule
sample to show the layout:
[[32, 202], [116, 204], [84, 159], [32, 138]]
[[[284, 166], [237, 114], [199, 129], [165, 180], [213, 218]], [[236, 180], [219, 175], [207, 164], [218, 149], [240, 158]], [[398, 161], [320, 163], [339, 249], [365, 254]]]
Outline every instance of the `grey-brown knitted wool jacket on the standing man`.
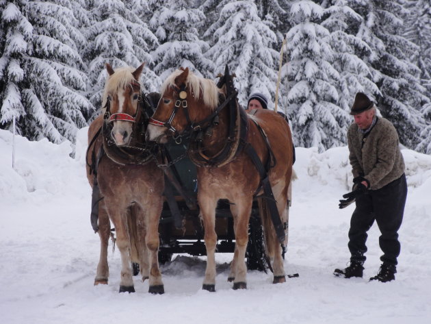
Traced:
[[359, 131], [355, 123], [350, 125], [348, 146], [353, 176], [365, 177], [371, 190], [386, 186], [404, 173], [398, 134], [387, 119], [378, 118], [367, 136]]

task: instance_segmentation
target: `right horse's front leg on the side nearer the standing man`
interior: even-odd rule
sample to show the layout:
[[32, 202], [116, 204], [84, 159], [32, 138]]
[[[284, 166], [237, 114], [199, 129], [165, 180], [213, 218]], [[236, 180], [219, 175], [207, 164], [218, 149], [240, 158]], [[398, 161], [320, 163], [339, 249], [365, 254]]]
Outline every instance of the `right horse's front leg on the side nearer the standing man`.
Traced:
[[238, 216], [235, 219], [235, 280], [233, 289], [247, 288], [247, 265], [246, 249], [248, 243], [248, 222], [252, 208], [252, 199], [250, 201], [241, 201], [237, 205]]

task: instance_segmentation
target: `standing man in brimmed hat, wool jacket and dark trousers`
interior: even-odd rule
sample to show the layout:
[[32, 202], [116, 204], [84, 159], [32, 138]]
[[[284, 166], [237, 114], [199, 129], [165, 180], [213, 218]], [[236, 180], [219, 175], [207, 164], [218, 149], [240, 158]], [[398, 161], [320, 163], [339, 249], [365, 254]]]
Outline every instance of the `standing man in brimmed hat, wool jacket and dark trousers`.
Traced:
[[350, 220], [350, 265], [335, 269], [337, 277], [362, 277], [367, 231], [376, 221], [380, 229], [382, 265], [370, 280], [389, 282], [395, 279], [400, 255], [398, 229], [402, 223], [407, 196], [404, 159], [397, 131], [387, 119], [376, 116], [374, 103], [362, 92], [354, 99], [350, 114], [354, 123], [348, 129], [349, 160], [352, 165], [353, 190], [343, 195], [339, 208], [356, 201]]

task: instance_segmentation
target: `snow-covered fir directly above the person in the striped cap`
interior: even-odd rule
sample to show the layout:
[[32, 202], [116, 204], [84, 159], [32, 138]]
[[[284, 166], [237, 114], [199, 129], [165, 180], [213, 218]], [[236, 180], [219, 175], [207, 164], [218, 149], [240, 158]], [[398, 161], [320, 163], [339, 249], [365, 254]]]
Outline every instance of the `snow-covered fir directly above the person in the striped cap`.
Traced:
[[263, 23], [253, 1], [222, 1], [216, 10], [220, 16], [205, 32], [213, 35], [208, 58], [215, 72], [222, 73], [228, 64], [235, 73], [235, 86], [241, 105], [255, 91], [267, 96], [272, 106], [276, 90], [278, 52], [272, 49], [276, 34]]

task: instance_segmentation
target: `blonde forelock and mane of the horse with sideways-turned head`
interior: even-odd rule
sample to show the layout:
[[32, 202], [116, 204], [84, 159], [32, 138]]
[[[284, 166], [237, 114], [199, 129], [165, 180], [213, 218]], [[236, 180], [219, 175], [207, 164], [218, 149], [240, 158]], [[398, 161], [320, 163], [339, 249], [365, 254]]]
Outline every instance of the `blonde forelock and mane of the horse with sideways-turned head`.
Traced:
[[[175, 78], [181, 73], [183, 73], [182, 70], [174, 71], [161, 85], [160, 93], [164, 93], [169, 87], [174, 86]], [[198, 77], [192, 73], [192, 71], [189, 71], [189, 75], [185, 81], [185, 86], [187, 87], [187, 90], [192, 92], [196, 98], [199, 98], [202, 93], [202, 99], [210, 110], [217, 108], [218, 94], [221, 92], [221, 90], [217, 88], [213, 80]]]

